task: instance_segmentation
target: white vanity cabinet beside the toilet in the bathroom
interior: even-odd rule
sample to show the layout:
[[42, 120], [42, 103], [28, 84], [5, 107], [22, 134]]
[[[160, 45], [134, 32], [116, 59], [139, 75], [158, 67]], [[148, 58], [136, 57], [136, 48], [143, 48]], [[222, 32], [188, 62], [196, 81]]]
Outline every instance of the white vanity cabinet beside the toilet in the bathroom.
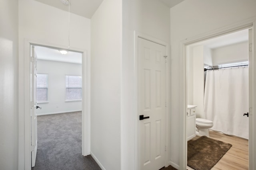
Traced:
[[187, 110], [187, 140], [196, 136], [196, 106], [188, 105]]

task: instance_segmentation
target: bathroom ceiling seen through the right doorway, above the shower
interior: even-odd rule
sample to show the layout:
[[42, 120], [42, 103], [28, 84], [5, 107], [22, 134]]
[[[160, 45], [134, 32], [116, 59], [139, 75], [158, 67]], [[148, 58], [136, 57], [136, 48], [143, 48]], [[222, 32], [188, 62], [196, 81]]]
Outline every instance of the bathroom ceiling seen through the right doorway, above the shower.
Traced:
[[216, 37], [206, 41], [202, 41], [200, 43], [195, 43], [190, 45], [190, 47], [194, 47], [197, 45], [204, 45], [210, 49], [216, 49], [216, 48], [224, 47], [227, 45], [242, 43], [245, 41], [248, 41], [248, 29], [244, 29], [242, 31], [237, 31], [234, 33]]

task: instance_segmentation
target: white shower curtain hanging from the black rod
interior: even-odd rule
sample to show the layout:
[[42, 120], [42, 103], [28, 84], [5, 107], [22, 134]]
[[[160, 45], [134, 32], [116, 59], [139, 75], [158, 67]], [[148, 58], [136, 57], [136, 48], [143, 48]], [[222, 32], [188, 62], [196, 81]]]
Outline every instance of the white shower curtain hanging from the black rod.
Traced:
[[208, 70], [204, 118], [215, 131], [248, 139], [248, 67]]

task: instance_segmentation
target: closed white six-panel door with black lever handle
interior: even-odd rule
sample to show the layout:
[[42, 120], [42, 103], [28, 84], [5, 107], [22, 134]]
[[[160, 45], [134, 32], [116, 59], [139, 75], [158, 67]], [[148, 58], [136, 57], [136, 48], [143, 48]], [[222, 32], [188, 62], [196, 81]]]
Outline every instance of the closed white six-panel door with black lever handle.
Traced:
[[165, 166], [165, 55], [165, 46], [138, 38], [139, 170], [159, 170]]

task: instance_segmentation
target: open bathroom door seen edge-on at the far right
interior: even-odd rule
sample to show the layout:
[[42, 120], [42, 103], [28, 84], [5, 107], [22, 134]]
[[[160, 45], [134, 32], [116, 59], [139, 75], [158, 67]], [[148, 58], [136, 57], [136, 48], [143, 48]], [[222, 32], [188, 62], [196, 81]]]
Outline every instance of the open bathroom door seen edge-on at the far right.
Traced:
[[248, 71], [249, 71], [249, 170], [252, 170], [252, 28], [248, 30]]

